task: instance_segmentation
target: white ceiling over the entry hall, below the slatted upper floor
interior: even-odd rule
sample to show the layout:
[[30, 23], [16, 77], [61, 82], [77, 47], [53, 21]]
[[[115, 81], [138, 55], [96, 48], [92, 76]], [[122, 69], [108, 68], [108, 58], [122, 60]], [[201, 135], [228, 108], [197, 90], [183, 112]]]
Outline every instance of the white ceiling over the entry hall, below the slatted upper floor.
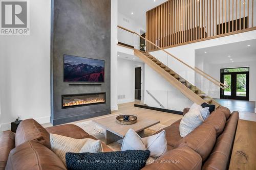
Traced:
[[196, 50], [197, 58], [202, 58], [209, 64], [256, 61], [256, 39], [201, 48]]

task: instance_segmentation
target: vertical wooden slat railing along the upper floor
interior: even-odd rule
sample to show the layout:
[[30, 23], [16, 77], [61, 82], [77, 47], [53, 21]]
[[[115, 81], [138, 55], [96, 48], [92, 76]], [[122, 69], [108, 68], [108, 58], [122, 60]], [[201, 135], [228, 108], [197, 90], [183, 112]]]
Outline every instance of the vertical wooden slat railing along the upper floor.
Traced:
[[168, 48], [255, 30], [253, 6], [253, 0], [169, 0], [146, 12], [146, 38]]

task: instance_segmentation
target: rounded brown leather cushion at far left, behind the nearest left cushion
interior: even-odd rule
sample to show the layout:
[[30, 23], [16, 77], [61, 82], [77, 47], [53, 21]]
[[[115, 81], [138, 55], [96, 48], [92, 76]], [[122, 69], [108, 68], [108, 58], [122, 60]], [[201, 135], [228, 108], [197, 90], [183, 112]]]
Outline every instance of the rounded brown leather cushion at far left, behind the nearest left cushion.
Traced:
[[16, 147], [27, 141], [37, 141], [51, 149], [50, 134], [34, 119], [23, 120], [16, 131]]

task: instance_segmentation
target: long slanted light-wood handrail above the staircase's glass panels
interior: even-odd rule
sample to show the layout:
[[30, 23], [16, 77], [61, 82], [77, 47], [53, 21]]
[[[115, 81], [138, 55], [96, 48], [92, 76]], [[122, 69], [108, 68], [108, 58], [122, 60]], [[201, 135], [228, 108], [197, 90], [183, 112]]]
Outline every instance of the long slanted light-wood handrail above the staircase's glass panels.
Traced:
[[209, 80], [210, 82], [216, 84], [217, 86], [219, 86], [220, 88], [222, 88], [223, 90], [225, 90], [224, 87], [222, 87], [219, 83], [212, 81], [210, 78], [208, 78], [205, 74], [202, 74], [201, 71], [196, 70], [195, 68], [191, 67], [190, 65], [188, 65], [187, 63], [185, 63], [184, 61], [180, 60], [179, 58], [175, 57], [174, 55], [170, 54], [169, 52], [165, 51], [163, 48], [161, 48], [160, 46], [154, 44], [153, 42], [151, 42], [150, 40], [147, 40], [146, 38], [142, 37], [141, 35], [139, 35], [138, 33], [131, 31], [129, 29], [123, 28], [121, 26], [117, 26], [120, 29], [123, 29], [125, 31], [128, 31], [130, 33], [136, 34], [138, 35], [140, 38], [144, 39], [145, 41], [147, 41], [148, 43], [151, 43], [152, 45], [156, 46], [157, 48], [159, 48], [161, 51], [165, 52], [166, 54], [172, 56], [173, 58], [175, 58], [176, 60], [178, 60], [179, 62], [181, 62], [182, 64], [186, 65], [187, 67], [189, 67], [190, 69], [193, 69], [195, 72], [197, 72], [198, 74], [202, 75], [204, 78], [206, 78], [207, 80]]

